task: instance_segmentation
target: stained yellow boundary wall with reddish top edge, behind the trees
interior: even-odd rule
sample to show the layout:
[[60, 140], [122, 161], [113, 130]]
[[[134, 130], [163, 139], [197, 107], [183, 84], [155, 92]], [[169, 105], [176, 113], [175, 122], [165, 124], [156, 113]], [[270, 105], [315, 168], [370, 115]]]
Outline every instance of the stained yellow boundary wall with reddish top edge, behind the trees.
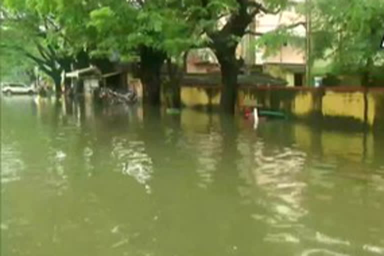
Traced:
[[[286, 94], [286, 96], [279, 98], [278, 94]], [[182, 86], [180, 97], [181, 103], [186, 107], [219, 105], [220, 103], [220, 92], [217, 88]], [[362, 91], [345, 92], [326, 89], [324, 94], [321, 94], [321, 91], [314, 90], [266, 91], [256, 88], [240, 88], [236, 107], [241, 109], [243, 106], [257, 105], [257, 103], [261, 103], [258, 102], [258, 97], [263, 99], [266, 107], [270, 107], [272, 98], [274, 100], [279, 98], [280, 108], [296, 116], [305, 117], [312, 113], [319, 113], [323, 116], [349, 117], [360, 122], [364, 121], [364, 94]], [[381, 109], [384, 111], [384, 93], [382, 91], [368, 92], [367, 100], [367, 123], [374, 125], [375, 121], [384, 120], [380, 117], [382, 116]]]

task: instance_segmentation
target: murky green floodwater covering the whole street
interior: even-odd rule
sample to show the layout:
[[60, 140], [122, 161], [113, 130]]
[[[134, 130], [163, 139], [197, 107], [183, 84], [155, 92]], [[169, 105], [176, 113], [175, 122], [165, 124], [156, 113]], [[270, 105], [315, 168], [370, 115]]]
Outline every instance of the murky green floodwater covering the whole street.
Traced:
[[384, 255], [384, 136], [1, 98], [1, 255]]

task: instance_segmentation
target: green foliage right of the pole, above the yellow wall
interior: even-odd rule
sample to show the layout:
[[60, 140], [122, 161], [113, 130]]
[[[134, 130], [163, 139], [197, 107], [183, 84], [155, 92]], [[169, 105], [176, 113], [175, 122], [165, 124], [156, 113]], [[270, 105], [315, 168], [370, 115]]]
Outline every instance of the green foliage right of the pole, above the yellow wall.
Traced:
[[[332, 59], [335, 72], [364, 73], [382, 65], [382, 0], [312, 0], [313, 55]], [[331, 49], [330, 54], [324, 54]]]

